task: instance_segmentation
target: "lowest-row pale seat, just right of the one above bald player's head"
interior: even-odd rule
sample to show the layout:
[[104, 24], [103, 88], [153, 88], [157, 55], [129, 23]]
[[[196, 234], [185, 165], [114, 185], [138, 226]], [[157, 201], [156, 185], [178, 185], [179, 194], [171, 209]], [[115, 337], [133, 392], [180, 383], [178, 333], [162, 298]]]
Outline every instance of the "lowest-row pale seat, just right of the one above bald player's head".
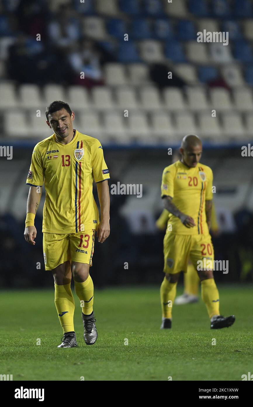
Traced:
[[201, 112], [198, 114], [199, 137], [212, 138], [212, 141], [222, 140], [222, 129], [218, 116], [212, 117], [211, 112]]

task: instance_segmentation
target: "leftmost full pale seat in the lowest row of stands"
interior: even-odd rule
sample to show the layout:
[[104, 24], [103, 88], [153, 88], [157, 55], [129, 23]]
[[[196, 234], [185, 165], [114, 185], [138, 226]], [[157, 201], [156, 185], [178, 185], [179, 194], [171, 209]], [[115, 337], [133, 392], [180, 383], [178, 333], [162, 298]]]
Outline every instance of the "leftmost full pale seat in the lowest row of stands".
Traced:
[[30, 128], [26, 114], [17, 111], [6, 111], [4, 114], [5, 132], [10, 137], [29, 137]]

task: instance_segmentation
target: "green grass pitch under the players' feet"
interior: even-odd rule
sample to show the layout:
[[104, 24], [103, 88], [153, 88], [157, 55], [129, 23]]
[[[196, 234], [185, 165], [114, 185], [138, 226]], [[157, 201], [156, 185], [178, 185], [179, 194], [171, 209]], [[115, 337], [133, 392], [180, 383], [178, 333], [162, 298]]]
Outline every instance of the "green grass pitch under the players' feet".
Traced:
[[221, 313], [236, 316], [234, 326], [221, 330], [210, 329], [202, 300], [174, 306], [172, 329], [160, 330], [159, 287], [96, 290], [93, 346], [84, 343], [73, 290], [78, 348], [72, 349], [57, 348], [63, 335], [53, 287], [2, 291], [0, 374], [13, 374], [17, 381], [167, 381], [169, 376], [173, 381], [241, 381], [242, 374], [253, 373], [252, 288], [220, 285]]

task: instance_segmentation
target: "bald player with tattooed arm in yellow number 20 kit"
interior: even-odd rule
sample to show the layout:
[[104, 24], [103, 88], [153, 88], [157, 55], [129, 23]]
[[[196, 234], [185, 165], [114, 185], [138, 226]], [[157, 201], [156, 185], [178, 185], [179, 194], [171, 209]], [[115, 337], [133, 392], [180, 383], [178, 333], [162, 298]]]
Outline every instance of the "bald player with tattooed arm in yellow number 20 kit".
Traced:
[[[219, 294], [213, 271], [205, 262], [214, 260], [209, 234], [212, 212], [212, 181], [210, 167], [200, 164], [202, 143], [198, 136], [182, 140], [182, 160], [166, 167], [162, 174], [161, 197], [169, 214], [164, 236], [164, 273], [160, 296], [161, 329], [171, 328], [172, 306], [181, 271], [186, 272], [190, 258], [201, 281], [202, 299], [207, 307], [211, 328], [234, 324], [235, 317], [223, 317], [219, 312]], [[202, 267], [199, 267], [202, 262]], [[210, 263], [210, 261], [208, 261]], [[199, 270], [198, 270], [199, 269]]]

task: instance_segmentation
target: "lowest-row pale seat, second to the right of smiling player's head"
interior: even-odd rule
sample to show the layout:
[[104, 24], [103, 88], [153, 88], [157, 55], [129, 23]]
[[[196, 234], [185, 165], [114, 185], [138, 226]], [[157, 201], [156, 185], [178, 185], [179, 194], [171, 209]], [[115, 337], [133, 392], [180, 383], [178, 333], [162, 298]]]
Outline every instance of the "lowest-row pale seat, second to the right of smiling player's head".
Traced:
[[125, 123], [124, 120], [128, 120], [123, 116], [123, 112], [108, 111], [104, 112], [104, 125], [103, 132], [106, 133], [107, 139], [116, 142], [125, 142]]

